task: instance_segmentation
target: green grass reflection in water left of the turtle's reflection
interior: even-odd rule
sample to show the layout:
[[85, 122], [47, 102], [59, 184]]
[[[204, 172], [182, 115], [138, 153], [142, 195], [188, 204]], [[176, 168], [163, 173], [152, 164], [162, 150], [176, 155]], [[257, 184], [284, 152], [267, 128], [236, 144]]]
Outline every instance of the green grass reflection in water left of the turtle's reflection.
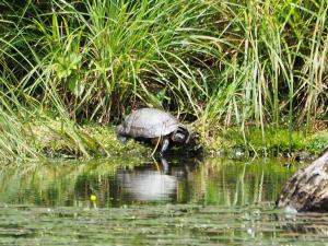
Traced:
[[136, 160], [112, 159], [1, 165], [0, 203], [83, 207], [89, 204], [92, 187], [77, 187], [79, 179], [96, 178], [101, 183], [115, 175], [118, 167], [140, 164]]

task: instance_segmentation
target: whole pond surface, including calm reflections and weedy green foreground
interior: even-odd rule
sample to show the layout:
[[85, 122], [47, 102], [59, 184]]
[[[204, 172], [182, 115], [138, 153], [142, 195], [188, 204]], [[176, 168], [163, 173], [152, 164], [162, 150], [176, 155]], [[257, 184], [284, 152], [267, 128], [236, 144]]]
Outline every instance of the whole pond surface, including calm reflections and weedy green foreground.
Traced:
[[176, 157], [1, 165], [0, 244], [328, 244], [328, 214], [274, 209], [298, 167]]

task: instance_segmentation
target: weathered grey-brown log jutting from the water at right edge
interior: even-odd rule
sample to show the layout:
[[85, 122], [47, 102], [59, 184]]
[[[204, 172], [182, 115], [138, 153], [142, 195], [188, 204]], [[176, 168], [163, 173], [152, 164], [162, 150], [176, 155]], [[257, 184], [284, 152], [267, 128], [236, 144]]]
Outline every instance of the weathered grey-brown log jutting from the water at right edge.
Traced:
[[298, 212], [328, 212], [328, 148], [311, 165], [291, 177], [277, 207], [291, 207]]

